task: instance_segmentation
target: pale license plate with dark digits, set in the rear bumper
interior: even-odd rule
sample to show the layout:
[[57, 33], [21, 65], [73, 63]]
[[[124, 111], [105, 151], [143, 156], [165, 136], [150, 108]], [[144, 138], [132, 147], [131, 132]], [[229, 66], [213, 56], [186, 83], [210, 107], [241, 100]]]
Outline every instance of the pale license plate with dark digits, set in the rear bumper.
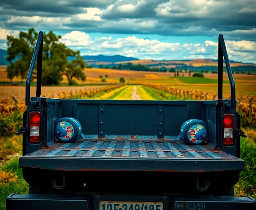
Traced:
[[163, 203], [101, 201], [100, 210], [163, 210]]

